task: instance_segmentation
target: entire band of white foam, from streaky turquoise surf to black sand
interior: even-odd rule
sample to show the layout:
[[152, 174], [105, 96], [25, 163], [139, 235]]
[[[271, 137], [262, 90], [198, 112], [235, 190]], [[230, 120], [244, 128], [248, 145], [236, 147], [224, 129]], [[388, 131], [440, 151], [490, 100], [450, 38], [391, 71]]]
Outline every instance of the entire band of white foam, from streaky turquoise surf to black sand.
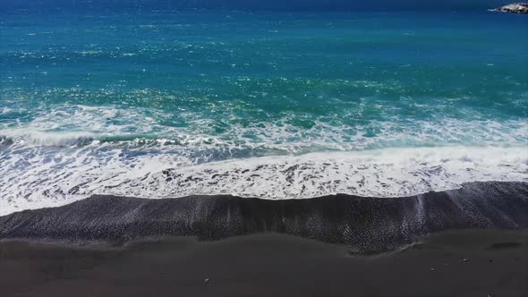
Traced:
[[[343, 122], [346, 115], [296, 114], [241, 124], [229, 108], [218, 108], [225, 117], [180, 111], [184, 124], [172, 127], [162, 123], [174, 115], [157, 109], [34, 106], [30, 123], [0, 123], [0, 215], [94, 193], [390, 197], [463, 182], [527, 180], [524, 119], [398, 118], [352, 126]], [[222, 132], [212, 118], [225, 124]]]

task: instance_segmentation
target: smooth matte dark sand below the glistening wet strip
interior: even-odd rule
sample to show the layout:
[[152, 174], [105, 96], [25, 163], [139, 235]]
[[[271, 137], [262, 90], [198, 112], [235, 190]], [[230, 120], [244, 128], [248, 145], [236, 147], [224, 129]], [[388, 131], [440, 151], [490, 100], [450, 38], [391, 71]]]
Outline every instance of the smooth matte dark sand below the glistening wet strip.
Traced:
[[504, 297], [528, 296], [527, 280], [525, 231], [439, 233], [376, 257], [278, 234], [125, 248], [0, 242], [2, 296]]

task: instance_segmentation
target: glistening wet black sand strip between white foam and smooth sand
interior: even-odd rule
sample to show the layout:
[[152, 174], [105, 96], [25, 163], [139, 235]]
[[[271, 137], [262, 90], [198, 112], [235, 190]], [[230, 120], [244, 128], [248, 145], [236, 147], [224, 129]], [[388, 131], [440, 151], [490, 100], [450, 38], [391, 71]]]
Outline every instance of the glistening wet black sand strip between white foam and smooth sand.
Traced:
[[385, 199], [93, 196], [64, 207], [0, 216], [0, 240], [119, 246], [145, 238], [194, 236], [217, 241], [283, 233], [344, 244], [357, 254], [379, 254], [447, 230], [528, 229], [526, 213], [527, 182], [473, 182], [458, 190]]

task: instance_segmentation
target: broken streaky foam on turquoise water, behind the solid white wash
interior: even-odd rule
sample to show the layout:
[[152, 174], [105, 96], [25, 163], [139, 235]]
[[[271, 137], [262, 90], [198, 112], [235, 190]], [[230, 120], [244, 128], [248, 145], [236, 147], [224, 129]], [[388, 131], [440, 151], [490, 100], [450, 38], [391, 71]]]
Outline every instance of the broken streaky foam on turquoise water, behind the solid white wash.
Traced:
[[[149, 92], [149, 90], [142, 90]], [[150, 96], [150, 95], [149, 95]], [[361, 106], [360, 106], [361, 107]], [[522, 119], [509, 121], [460, 120], [439, 118], [394, 121], [370, 120], [369, 123], [350, 125], [343, 118], [353, 115], [336, 115], [315, 118], [311, 115], [284, 115], [278, 119], [240, 124], [234, 113], [204, 118], [197, 112], [178, 113], [182, 125], [167, 126], [174, 115], [157, 109], [122, 109], [117, 106], [61, 105], [40, 112], [30, 123], [16, 125], [0, 123], [0, 136], [24, 141], [26, 145], [67, 146], [77, 140], [105, 138], [164, 138], [187, 146], [187, 155], [207, 150], [222, 150], [229, 157], [238, 151], [275, 149], [287, 154], [302, 154], [321, 150], [362, 150], [391, 147], [423, 147], [438, 144], [518, 146], [528, 141], [528, 122]], [[38, 108], [36, 108], [38, 109]], [[229, 110], [226, 112], [229, 114]], [[355, 116], [357, 117], [357, 116]], [[224, 132], [215, 130], [215, 120], [223, 120]], [[311, 127], [300, 127], [295, 122], [306, 120]], [[227, 126], [227, 128], [226, 128]], [[376, 136], [370, 136], [375, 131]], [[178, 148], [178, 150], [182, 150]], [[208, 162], [211, 157], [200, 156], [195, 162]]]

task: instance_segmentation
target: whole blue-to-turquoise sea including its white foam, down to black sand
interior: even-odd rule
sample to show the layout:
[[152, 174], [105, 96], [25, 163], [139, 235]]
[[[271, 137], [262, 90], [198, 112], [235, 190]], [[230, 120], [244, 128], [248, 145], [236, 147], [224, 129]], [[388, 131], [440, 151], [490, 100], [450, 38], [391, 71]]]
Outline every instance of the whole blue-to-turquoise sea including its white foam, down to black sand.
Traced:
[[528, 18], [1, 15], [0, 214], [528, 180]]

